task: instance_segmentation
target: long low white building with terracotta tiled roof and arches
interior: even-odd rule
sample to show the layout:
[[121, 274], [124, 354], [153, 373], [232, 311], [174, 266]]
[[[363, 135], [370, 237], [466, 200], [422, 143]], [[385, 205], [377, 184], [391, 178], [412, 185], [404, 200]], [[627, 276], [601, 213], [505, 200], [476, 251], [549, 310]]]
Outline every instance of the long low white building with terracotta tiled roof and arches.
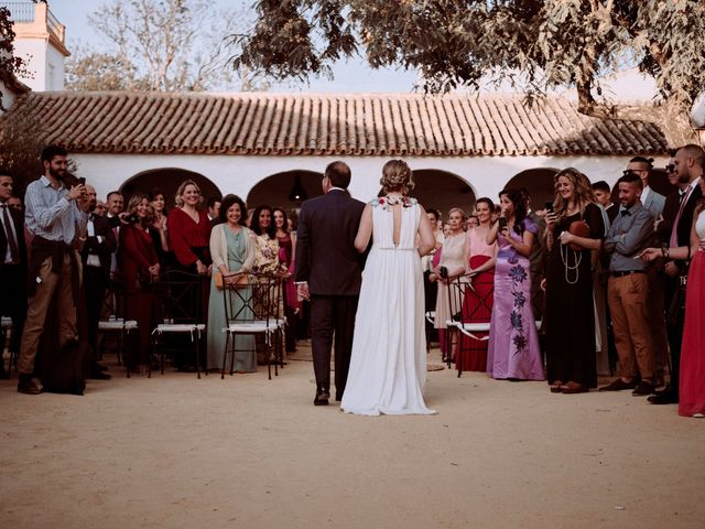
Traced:
[[69, 149], [99, 196], [155, 186], [169, 196], [193, 177], [206, 196], [289, 208], [294, 183], [319, 194], [338, 159], [352, 169], [351, 194], [367, 201], [384, 162], [402, 158], [415, 196], [447, 210], [496, 199], [508, 184], [543, 203], [566, 166], [614, 184], [631, 156], [663, 166], [669, 148], [653, 123], [590, 118], [561, 97], [528, 108], [521, 96], [467, 94], [32, 93], [11, 111], [34, 116], [47, 143]]

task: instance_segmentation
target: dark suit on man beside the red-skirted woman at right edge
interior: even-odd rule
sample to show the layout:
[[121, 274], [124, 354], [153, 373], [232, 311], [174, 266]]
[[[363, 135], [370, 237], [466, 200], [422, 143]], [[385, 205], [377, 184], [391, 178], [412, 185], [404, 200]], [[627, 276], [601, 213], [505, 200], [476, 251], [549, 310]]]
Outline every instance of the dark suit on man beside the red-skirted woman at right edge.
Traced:
[[[679, 219], [675, 228], [677, 246], [690, 246], [691, 244], [691, 228], [693, 226], [693, 213], [695, 206], [703, 196], [703, 191], [699, 185], [696, 185], [687, 202], [683, 206], [681, 218]], [[675, 217], [679, 214], [681, 207], [681, 199], [679, 192], [671, 193], [663, 206], [663, 222], [659, 225], [657, 235], [659, 242], [662, 245], [669, 245], [671, 240], [671, 231], [675, 223]], [[685, 261], [674, 261], [676, 267], [684, 272]], [[664, 307], [668, 311], [673, 302], [673, 298], [677, 293], [680, 287], [680, 278], [672, 278], [665, 273], [661, 274], [663, 280], [663, 298]], [[669, 348], [671, 349], [671, 390], [677, 397], [679, 391], [679, 371], [681, 369], [681, 344], [683, 342], [683, 323], [685, 319], [684, 311], [679, 311], [674, 320], [666, 317], [666, 335], [669, 338]]]

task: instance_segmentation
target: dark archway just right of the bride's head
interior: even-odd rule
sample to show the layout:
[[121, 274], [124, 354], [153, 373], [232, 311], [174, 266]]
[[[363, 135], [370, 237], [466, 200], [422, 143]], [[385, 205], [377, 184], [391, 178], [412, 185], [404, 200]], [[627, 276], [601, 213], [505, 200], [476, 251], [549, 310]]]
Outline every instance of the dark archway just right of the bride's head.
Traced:
[[475, 191], [458, 175], [438, 169], [413, 172], [415, 186], [411, 192], [424, 207], [441, 212], [447, 218], [448, 209], [459, 207], [466, 214], [475, 207]]

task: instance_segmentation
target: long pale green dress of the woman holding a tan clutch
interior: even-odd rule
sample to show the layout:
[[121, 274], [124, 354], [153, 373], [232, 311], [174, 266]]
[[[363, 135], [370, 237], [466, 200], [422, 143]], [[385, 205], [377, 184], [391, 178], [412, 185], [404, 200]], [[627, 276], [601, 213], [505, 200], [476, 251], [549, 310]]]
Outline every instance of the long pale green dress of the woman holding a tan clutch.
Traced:
[[[225, 227], [224, 229], [227, 244], [228, 244], [228, 270], [237, 271], [242, 268], [242, 263], [246, 259], [246, 235], [245, 230], [236, 234], [231, 229]], [[249, 287], [248, 287], [249, 288]], [[237, 295], [231, 296], [232, 310], [231, 313], [237, 312], [242, 306], [242, 301]], [[247, 316], [247, 314], [246, 314]], [[251, 315], [250, 315], [251, 317]], [[225, 322], [225, 302], [223, 291], [216, 289], [215, 280], [210, 279], [210, 298], [208, 301], [208, 368], [223, 368], [223, 357], [225, 355], [226, 333], [223, 330], [226, 327]], [[257, 355], [254, 349], [254, 336], [253, 335], [237, 335], [235, 336], [235, 364], [232, 369], [236, 371], [257, 371]], [[226, 370], [230, 369], [230, 356], [228, 355], [228, 363]]]

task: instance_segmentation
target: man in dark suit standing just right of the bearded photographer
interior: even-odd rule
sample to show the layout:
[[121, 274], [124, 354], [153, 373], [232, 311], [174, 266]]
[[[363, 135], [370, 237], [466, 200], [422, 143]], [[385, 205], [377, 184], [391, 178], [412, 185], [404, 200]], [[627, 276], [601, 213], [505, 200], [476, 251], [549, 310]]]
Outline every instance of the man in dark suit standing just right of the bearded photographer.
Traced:
[[115, 234], [108, 225], [108, 219], [95, 214], [98, 198], [96, 188], [86, 185], [88, 195], [88, 224], [86, 226], [86, 241], [80, 251], [85, 298], [86, 326], [90, 353], [88, 357], [88, 378], [109, 379], [105, 373], [108, 368], [98, 364], [98, 323], [106, 301], [106, 290], [110, 283], [110, 260], [117, 248]]

